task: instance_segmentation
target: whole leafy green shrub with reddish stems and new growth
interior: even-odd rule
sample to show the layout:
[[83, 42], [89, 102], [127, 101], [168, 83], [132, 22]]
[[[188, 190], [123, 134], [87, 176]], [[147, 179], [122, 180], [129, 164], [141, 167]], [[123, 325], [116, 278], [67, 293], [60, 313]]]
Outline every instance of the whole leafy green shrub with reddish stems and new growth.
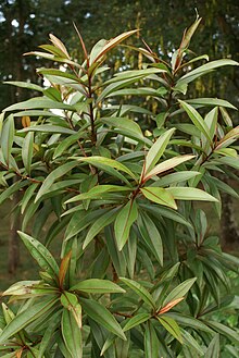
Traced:
[[[81, 64], [50, 35], [32, 53], [52, 61], [37, 70], [48, 88], [12, 83], [39, 96], [1, 114], [0, 203], [21, 192], [18, 234], [40, 277], [3, 294], [2, 357], [210, 358], [219, 335], [237, 351], [238, 332], [214, 317], [238, 309], [226, 274], [238, 259], [221, 250], [194, 201], [210, 201], [219, 218], [221, 192], [238, 197], [222, 178], [239, 166], [239, 128], [228, 101], [187, 95], [200, 76], [238, 63], [188, 59], [200, 21], [171, 63], [146, 45], [135, 49], [147, 61], [140, 70], [110, 79], [109, 51], [138, 30], [88, 51], [76, 28]], [[61, 246], [60, 262], [50, 245]]]

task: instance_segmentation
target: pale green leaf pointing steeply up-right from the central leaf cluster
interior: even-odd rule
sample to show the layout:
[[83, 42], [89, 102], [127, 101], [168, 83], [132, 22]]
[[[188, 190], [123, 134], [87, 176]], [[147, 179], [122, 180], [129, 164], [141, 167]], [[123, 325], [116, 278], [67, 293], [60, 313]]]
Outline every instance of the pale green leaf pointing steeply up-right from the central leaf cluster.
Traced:
[[162, 157], [175, 128], [171, 128], [166, 131], [160, 138], [156, 139], [156, 141], [152, 145], [150, 148], [147, 157], [146, 157], [146, 165], [143, 169], [143, 176], [144, 174], [148, 174], [149, 171], [153, 169], [153, 166], [156, 164], [156, 162]]

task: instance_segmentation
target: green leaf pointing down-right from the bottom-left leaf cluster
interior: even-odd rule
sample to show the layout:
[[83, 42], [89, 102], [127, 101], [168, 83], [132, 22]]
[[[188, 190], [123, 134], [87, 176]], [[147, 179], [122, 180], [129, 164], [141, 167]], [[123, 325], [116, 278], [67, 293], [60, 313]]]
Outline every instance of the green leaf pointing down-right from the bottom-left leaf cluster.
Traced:
[[126, 340], [125, 334], [110, 311], [92, 299], [80, 298], [84, 311], [96, 322], [103, 325], [108, 331], [117, 335], [122, 340]]

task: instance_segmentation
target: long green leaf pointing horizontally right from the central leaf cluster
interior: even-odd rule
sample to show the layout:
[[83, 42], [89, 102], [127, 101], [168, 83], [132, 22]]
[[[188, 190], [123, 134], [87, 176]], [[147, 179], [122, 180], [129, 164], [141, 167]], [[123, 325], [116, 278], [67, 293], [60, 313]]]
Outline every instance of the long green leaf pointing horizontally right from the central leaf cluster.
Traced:
[[198, 188], [172, 186], [166, 188], [165, 190], [169, 192], [173, 198], [178, 200], [200, 200], [200, 201], [215, 201], [215, 202], [218, 201], [212, 195]]

